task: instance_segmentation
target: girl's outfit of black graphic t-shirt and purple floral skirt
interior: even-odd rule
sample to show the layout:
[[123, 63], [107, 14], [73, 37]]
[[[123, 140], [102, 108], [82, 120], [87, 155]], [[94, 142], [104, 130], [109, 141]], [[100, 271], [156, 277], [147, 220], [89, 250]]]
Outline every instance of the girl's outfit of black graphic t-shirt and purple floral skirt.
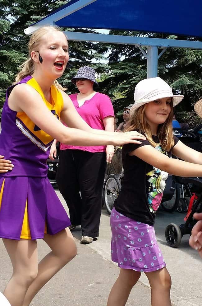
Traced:
[[[153, 139], [156, 149], [171, 158], [171, 152], [162, 150], [158, 137]], [[174, 141], [177, 144], [178, 139]], [[151, 272], [166, 266], [156, 241], [154, 219], [168, 173], [129, 155], [145, 145], [151, 146], [148, 140], [141, 140], [141, 144], [126, 144], [122, 148], [124, 177], [110, 216], [111, 253], [112, 261], [120, 268]]]

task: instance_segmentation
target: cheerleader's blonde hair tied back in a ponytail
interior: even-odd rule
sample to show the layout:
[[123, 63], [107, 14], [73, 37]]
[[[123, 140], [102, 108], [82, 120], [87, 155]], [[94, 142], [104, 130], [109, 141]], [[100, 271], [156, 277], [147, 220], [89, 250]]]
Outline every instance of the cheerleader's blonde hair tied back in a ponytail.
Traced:
[[[31, 51], [37, 50], [41, 43], [42, 37], [47, 33], [47, 31], [58, 31], [62, 32], [58, 27], [55, 26], [43, 26], [36, 30], [30, 37], [30, 41], [28, 43], [28, 50], [29, 50], [29, 58], [21, 65], [20, 72], [17, 74], [15, 78], [14, 84], [20, 82], [23, 78], [27, 77], [28, 75], [32, 75], [34, 73], [34, 61], [31, 58]], [[67, 36], [65, 35], [67, 38]], [[67, 40], [68, 41], [68, 40]], [[66, 90], [60, 85], [57, 80], [53, 82], [53, 84], [61, 90]]]

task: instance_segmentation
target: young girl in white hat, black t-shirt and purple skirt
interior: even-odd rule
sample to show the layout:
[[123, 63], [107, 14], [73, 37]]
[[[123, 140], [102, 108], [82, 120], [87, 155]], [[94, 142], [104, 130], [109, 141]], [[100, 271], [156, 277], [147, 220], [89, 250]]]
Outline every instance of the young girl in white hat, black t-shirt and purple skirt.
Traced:
[[[152, 306], [171, 306], [171, 277], [156, 241], [154, 219], [168, 173], [202, 176], [202, 153], [173, 136], [173, 106], [183, 96], [173, 96], [172, 89], [161, 78], [140, 81], [134, 99], [126, 130], [136, 130], [146, 140], [141, 144], [126, 144], [122, 149], [122, 189], [110, 217], [112, 261], [121, 270], [107, 306], [126, 305], [141, 272], [151, 286]], [[172, 154], [184, 161], [172, 159]]]

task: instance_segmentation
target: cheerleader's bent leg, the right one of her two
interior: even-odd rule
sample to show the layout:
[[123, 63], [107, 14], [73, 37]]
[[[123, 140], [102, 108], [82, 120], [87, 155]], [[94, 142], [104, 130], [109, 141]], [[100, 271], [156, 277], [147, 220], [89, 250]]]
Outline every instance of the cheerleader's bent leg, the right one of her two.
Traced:
[[28, 306], [39, 290], [77, 254], [76, 243], [66, 228], [55, 235], [44, 235], [44, 241], [51, 248], [38, 265], [38, 275], [25, 295], [23, 306]]

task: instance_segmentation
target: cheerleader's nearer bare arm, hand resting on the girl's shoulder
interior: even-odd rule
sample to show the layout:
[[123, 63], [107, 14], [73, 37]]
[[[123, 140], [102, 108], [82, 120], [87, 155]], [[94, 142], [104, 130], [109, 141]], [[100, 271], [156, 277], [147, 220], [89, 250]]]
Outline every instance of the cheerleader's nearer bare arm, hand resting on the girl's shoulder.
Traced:
[[[24, 111], [40, 129], [63, 144], [79, 146], [121, 145], [141, 143], [135, 139], [145, 139], [137, 132], [125, 134], [108, 132], [109, 135], [104, 135], [67, 128], [48, 110], [39, 93], [28, 84], [19, 84], [13, 88], [8, 98], [8, 105], [13, 111]], [[71, 115], [69, 113], [70, 119]], [[81, 117], [79, 116], [79, 118]]]

